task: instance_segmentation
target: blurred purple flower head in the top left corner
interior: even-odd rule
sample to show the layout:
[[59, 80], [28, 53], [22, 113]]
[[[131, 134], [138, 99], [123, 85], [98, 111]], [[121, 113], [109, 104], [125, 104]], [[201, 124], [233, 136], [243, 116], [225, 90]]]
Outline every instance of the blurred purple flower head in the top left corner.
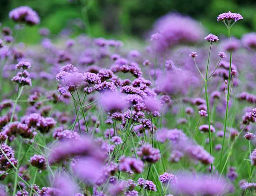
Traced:
[[40, 22], [38, 14], [29, 6], [20, 6], [13, 9], [9, 13], [9, 18], [15, 22], [26, 23], [31, 26], [39, 24]]

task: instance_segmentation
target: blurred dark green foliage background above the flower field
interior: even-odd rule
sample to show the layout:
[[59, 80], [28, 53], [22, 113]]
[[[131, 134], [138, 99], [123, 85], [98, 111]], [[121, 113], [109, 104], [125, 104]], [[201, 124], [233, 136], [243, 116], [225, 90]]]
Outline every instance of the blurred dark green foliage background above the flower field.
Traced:
[[216, 35], [227, 33], [223, 24], [216, 21], [218, 14], [239, 12], [244, 20], [233, 28], [233, 35], [241, 37], [256, 31], [256, 0], [0, 0], [2, 26], [13, 27], [9, 11], [25, 5], [41, 17], [39, 26], [23, 30], [20, 40], [26, 43], [40, 40], [41, 27], [49, 28], [53, 35], [69, 28], [72, 36], [87, 32], [93, 37], [143, 38], [154, 21], [169, 12], [189, 15]]

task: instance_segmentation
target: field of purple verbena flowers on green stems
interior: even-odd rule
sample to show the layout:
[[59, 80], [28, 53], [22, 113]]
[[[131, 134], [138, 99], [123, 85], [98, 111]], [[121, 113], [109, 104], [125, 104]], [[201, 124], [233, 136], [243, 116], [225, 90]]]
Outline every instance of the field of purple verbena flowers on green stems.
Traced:
[[[0, 196], [252, 196], [256, 33], [170, 13], [145, 40], [0, 26]], [[86, 21], [85, 21], [86, 22]]]

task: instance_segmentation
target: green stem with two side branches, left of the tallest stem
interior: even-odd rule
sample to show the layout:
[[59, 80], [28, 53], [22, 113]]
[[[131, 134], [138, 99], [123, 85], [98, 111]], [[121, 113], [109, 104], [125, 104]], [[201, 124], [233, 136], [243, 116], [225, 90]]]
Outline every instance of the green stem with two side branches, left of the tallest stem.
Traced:
[[[207, 69], [206, 69], [206, 75], [205, 75], [205, 98], [206, 98], [206, 104], [207, 104], [207, 113], [208, 113], [208, 127], [209, 127], [209, 147], [210, 147], [210, 154], [212, 156], [212, 134], [211, 134], [211, 117], [210, 117], [210, 107], [209, 107], [209, 99], [208, 99], [208, 92], [207, 92], [207, 75], [208, 75], [208, 69], [209, 69], [209, 61], [210, 61], [210, 54], [212, 49], [212, 43], [210, 45], [209, 49], [209, 55], [208, 55], [208, 61], [207, 61]], [[213, 167], [211, 163], [211, 174], [213, 175]]]

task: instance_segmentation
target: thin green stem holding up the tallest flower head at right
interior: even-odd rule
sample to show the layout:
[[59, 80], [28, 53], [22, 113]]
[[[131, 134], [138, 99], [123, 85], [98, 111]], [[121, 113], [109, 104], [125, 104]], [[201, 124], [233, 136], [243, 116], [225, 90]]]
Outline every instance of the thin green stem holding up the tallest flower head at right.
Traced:
[[[230, 23], [228, 23], [228, 36], [231, 41], [231, 35], [230, 35]], [[222, 140], [222, 147], [221, 147], [221, 158], [219, 161], [219, 168], [218, 170], [221, 171], [222, 166], [222, 156], [223, 156], [223, 150], [225, 147], [225, 138], [226, 138], [226, 132], [227, 132], [227, 116], [228, 116], [228, 104], [230, 100], [230, 76], [231, 76], [231, 63], [232, 63], [232, 50], [230, 51], [230, 67], [229, 67], [229, 76], [228, 76], [228, 87], [227, 87], [227, 100], [226, 100], [226, 112], [225, 112], [225, 121], [224, 121], [224, 135]]]

